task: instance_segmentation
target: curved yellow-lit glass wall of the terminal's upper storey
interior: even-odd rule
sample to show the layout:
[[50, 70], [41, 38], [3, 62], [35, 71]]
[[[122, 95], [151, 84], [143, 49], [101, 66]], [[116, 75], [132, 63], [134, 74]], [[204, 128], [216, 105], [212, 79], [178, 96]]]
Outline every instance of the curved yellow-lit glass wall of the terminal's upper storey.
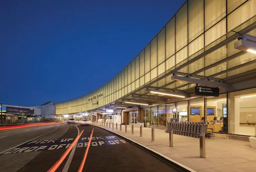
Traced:
[[[161, 31], [119, 74], [89, 94], [56, 103], [56, 114], [89, 111], [121, 99], [167, 70], [174, 70], [175, 66], [178, 67], [191, 60], [195, 57], [193, 56], [195, 52], [254, 15], [256, 15], [256, 0], [187, 0]], [[255, 36], [255, 30], [250, 34]], [[223, 37], [222, 41], [225, 39], [226, 37]], [[233, 55], [238, 50], [233, 48], [232, 43], [183, 67], [179, 72], [196, 72]], [[254, 60], [252, 55], [245, 54], [244, 56], [247, 62]], [[241, 57], [223, 62], [197, 74], [225, 78], [238, 74], [240, 71], [221, 72], [239, 64], [243, 64]], [[246, 72], [252, 68], [254, 66], [244, 67], [242, 71]], [[170, 82], [164, 80], [161, 85]], [[164, 125], [164, 122], [158, 119], [151, 123]]]

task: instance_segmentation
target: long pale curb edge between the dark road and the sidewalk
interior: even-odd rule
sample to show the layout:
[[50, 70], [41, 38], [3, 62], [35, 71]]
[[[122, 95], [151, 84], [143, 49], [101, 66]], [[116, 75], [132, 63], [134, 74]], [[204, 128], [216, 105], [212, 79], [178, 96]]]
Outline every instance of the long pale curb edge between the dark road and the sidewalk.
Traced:
[[[92, 124], [90, 124], [90, 125], [92, 125]], [[121, 138], [123, 138], [123, 139], [125, 139], [125, 140], [128, 140], [129, 142], [131, 142], [131, 143], [135, 144], [136, 146], [142, 148], [143, 150], [145, 150], [145, 151], [147, 151], [147, 152], [153, 154], [154, 156], [160, 158], [161, 160], [165, 161], [166, 163], [170, 164], [171, 166], [177, 168], [178, 170], [180, 170], [180, 171], [182, 171], [182, 172], [197, 172], [197, 171], [193, 170], [192, 168], [189, 168], [188, 166], [186, 166], [186, 165], [184, 165], [184, 164], [181, 164], [181, 163], [179, 163], [179, 162], [177, 162], [177, 161], [175, 161], [175, 160], [169, 158], [168, 156], [165, 156], [164, 154], [159, 153], [159, 152], [157, 152], [157, 151], [155, 151], [155, 150], [153, 150], [153, 149], [151, 149], [151, 148], [149, 148], [149, 147], [147, 147], [147, 146], [145, 146], [145, 145], [143, 145], [143, 144], [140, 144], [140, 143], [138, 143], [138, 142], [136, 142], [136, 141], [134, 141], [134, 140], [131, 140], [131, 139], [129, 139], [129, 138], [127, 138], [127, 137], [125, 137], [125, 136], [119, 134], [119, 133], [116, 133], [116, 132], [114, 132], [114, 131], [108, 130], [108, 129], [103, 128], [103, 127], [101, 127], [101, 126], [96, 126], [96, 125], [92, 125], [92, 126], [102, 128], [102, 129], [104, 129], [104, 130], [109, 131], [110, 133], [113, 133], [113, 134], [115, 134], [115, 135], [118, 135], [119, 137], [121, 137]], [[110, 129], [112, 129], [112, 128], [110, 128]]]

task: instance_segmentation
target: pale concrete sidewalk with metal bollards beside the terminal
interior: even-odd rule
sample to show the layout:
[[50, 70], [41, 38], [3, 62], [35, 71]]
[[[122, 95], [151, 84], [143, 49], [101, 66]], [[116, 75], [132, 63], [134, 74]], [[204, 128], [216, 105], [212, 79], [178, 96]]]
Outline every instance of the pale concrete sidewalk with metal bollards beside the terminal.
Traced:
[[104, 127], [104, 124], [96, 126], [140, 143], [198, 172], [256, 171], [256, 149], [252, 148], [249, 142], [206, 138], [206, 158], [200, 158], [199, 138], [173, 134], [173, 147], [169, 147], [169, 134], [164, 130], [155, 129], [155, 141], [151, 141], [151, 128], [143, 127], [142, 137], [140, 137], [139, 127], [134, 126], [132, 135], [131, 125], [127, 125], [127, 133], [125, 133], [125, 125], [122, 125], [122, 131], [120, 131], [120, 124], [118, 130], [116, 130], [116, 124], [114, 124], [114, 130], [112, 125], [111, 128]]

